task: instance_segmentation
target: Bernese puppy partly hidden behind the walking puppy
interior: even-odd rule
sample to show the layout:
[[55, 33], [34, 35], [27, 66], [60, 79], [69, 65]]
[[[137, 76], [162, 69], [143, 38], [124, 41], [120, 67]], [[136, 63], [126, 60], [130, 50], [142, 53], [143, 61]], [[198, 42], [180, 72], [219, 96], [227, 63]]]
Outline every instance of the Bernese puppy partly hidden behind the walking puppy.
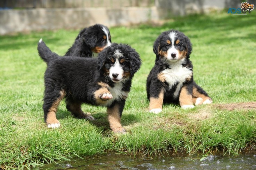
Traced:
[[108, 27], [95, 24], [79, 32], [65, 56], [93, 57], [110, 45], [111, 36]]

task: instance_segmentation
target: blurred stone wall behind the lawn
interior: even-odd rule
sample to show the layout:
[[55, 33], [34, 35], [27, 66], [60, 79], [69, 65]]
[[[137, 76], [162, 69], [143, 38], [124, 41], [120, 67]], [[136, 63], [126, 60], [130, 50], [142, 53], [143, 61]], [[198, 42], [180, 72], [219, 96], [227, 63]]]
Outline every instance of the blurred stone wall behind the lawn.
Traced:
[[[0, 35], [14, 32], [108, 27], [240, 8], [241, 0], [0, 0]], [[253, 3], [253, 1], [246, 1]]]

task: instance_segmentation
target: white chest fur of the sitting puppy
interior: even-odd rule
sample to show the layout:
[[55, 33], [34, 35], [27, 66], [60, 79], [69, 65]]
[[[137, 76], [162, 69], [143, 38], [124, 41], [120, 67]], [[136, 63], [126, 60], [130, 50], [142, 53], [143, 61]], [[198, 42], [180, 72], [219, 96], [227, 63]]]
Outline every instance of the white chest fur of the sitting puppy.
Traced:
[[182, 84], [187, 78], [191, 78], [193, 75], [192, 70], [187, 67], [182, 67], [181, 64], [172, 65], [171, 68], [167, 68], [161, 72], [165, 78], [165, 82], [168, 83], [169, 89], [171, 89], [175, 84], [177, 87], [174, 92], [174, 98], [179, 95]]

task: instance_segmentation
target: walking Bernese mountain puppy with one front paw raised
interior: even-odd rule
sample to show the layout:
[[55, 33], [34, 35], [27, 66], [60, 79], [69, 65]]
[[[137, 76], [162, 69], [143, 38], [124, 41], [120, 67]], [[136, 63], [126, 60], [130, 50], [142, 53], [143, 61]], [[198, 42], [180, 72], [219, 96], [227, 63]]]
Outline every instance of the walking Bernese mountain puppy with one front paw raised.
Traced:
[[133, 48], [113, 43], [98, 58], [60, 57], [40, 39], [38, 52], [47, 63], [43, 111], [48, 128], [60, 126], [56, 111], [65, 98], [67, 110], [79, 119], [94, 120], [81, 110], [82, 103], [106, 106], [110, 128], [125, 132], [121, 116], [132, 78], [141, 66], [140, 56]]

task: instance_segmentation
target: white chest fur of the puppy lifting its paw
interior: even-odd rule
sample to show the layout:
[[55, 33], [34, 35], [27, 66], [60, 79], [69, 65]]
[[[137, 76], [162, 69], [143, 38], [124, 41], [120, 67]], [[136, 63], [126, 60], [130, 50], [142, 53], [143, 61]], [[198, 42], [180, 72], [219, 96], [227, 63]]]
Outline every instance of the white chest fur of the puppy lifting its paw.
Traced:
[[108, 100], [105, 106], [110, 106], [113, 101], [120, 101], [123, 98], [126, 98], [128, 93], [126, 91], [122, 91], [123, 83], [115, 83], [114, 87], [109, 87], [109, 92], [112, 94], [113, 98]]

